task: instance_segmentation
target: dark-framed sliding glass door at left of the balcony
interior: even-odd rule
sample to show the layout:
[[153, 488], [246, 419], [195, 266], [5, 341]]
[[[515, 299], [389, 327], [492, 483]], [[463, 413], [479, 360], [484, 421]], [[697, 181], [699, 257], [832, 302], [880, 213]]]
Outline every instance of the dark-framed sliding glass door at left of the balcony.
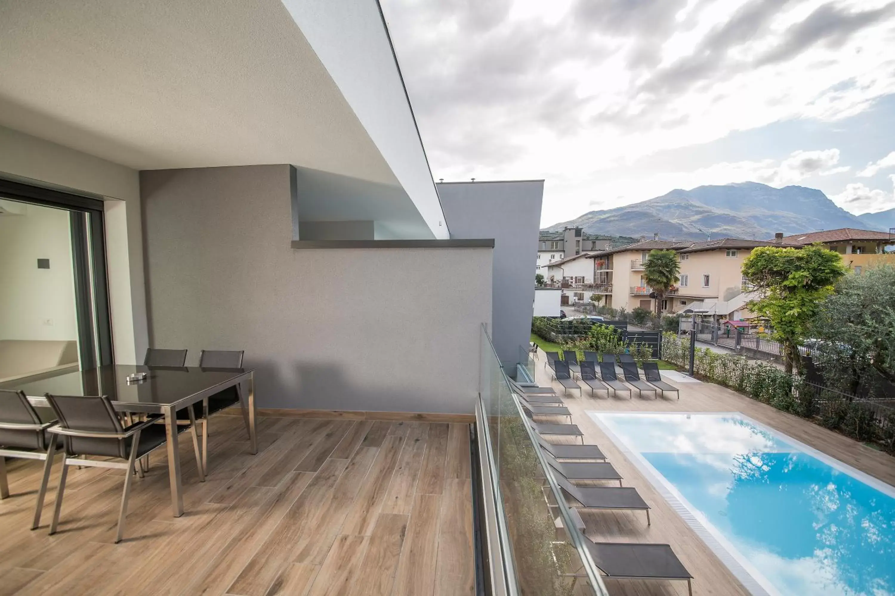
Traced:
[[103, 203], [0, 180], [0, 382], [112, 364]]

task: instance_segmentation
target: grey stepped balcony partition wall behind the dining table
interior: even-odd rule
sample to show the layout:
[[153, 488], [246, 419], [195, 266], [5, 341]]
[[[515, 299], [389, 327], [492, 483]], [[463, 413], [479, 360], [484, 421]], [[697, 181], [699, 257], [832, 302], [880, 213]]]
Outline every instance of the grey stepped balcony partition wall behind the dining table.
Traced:
[[152, 346], [244, 349], [262, 407], [473, 411], [492, 249], [290, 248], [288, 165], [141, 172], [141, 196]]

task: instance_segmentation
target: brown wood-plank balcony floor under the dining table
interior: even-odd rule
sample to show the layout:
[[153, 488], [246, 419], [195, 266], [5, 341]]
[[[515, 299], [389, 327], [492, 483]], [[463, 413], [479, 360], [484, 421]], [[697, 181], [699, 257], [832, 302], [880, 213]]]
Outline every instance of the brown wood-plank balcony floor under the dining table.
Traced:
[[0, 596], [471, 594], [468, 428], [261, 418], [252, 456], [242, 417], [217, 416], [205, 483], [182, 438], [184, 515], [171, 516], [166, 458], [153, 456], [117, 545], [122, 472], [72, 468], [49, 536], [52, 491], [30, 530], [41, 464], [10, 460]]

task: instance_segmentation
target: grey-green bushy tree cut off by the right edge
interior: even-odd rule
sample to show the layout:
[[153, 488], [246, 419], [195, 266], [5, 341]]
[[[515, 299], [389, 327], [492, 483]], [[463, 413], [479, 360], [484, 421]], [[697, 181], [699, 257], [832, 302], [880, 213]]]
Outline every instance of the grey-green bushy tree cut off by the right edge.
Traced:
[[810, 333], [832, 385], [855, 393], [869, 369], [895, 382], [895, 267], [843, 277], [818, 306]]

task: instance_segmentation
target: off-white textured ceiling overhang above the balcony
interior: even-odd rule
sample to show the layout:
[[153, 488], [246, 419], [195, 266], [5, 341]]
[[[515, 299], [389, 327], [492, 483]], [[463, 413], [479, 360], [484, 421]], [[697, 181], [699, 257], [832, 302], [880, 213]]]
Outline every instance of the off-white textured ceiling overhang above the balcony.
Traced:
[[371, 182], [314, 217], [358, 219], [364, 201], [378, 216], [386, 197], [381, 219], [433, 236], [279, 0], [0, 3], [0, 124], [136, 170], [294, 164]]

